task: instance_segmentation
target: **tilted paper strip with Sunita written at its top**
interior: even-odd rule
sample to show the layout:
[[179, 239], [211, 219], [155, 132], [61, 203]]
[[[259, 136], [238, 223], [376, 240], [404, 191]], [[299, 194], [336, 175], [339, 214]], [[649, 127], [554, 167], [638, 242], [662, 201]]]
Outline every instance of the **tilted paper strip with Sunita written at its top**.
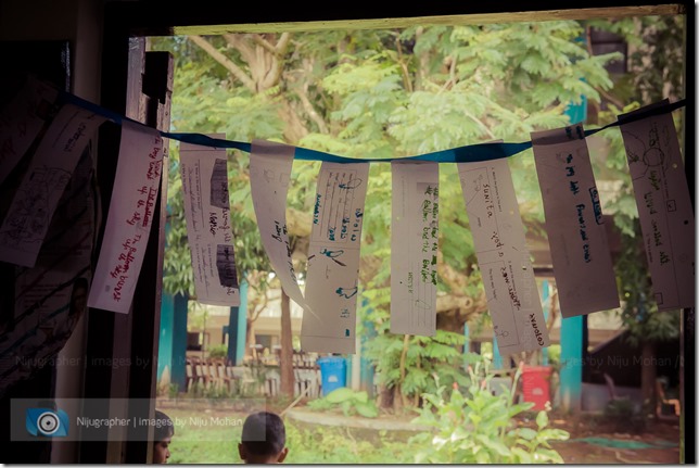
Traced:
[[507, 160], [457, 166], [500, 353], [548, 346], [548, 329]]

